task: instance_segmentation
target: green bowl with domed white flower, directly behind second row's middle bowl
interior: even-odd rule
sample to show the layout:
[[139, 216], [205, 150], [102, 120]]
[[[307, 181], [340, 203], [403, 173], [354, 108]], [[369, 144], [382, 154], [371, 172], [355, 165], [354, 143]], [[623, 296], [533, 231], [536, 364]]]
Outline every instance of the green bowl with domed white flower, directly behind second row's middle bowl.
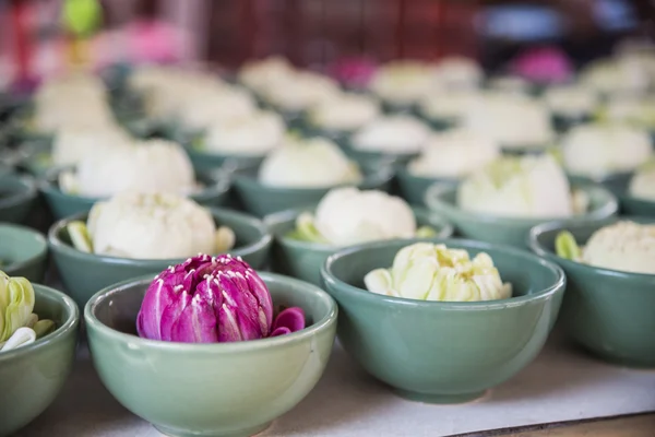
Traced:
[[317, 203], [335, 187], [389, 188], [390, 165], [357, 165], [326, 139], [289, 142], [269, 154], [259, 167], [231, 170], [237, 201], [260, 217]]

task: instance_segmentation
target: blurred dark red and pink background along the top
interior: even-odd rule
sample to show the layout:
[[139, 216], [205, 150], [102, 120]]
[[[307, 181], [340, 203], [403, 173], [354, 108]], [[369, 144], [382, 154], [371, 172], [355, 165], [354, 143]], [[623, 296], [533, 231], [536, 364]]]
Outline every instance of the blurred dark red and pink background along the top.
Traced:
[[[652, 0], [104, 0], [88, 61], [203, 62], [234, 68], [285, 55], [325, 68], [344, 58], [476, 58], [501, 70], [528, 46], [575, 64], [617, 42], [652, 38]], [[0, 86], [67, 68], [62, 0], [0, 1]]]

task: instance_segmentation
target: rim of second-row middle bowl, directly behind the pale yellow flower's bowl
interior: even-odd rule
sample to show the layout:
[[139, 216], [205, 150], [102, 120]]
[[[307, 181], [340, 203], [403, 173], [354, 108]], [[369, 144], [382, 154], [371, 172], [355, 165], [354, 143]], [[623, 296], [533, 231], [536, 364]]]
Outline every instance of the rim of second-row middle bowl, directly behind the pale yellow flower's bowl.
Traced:
[[[293, 208], [289, 210], [277, 211], [272, 214], [265, 215], [263, 217], [263, 222], [264, 222], [264, 225], [266, 225], [266, 227], [269, 228], [269, 232], [271, 233], [271, 235], [273, 235], [273, 238], [277, 243], [279, 243], [281, 245], [284, 245], [284, 246], [295, 247], [298, 249], [330, 252], [330, 253], [341, 250], [343, 248], [353, 246], [353, 245], [332, 246], [332, 245], [325, 244], [325, 243], [301, 241], [301, 240], [298, 240], [295, 238], [290, 238], [287, 235], [279, 235], [272, 229], [273, 226], [282, 225], [283, 223], [290, 222], [291, 220], [295, 221], [296, 217], [298, 217], [298, 215], [300, 215], [303, 212], [310, 212], [310, 211], [315, 212], [317, 206], [318, 206], [318, 202], [313, 203], [311, 205], [303, 206], [303, 208]], [[426, 215], [426, 216], [433, 214], [438, 218], [437, 221], [439, 221], [441, 223], [441, 225], [440, 225], [441, 227], [440, 227], [440, 231], [438, 232], [438, 235], [434, 238], [449, 238], [454, 234], [455, 227], [452, 225], [452, 223], [450, 223], [448, 220], [445, 220], [444, 217], [439, 215], [436, 211], [430, 211], [427, 208], [421, 208], [421, 206], [409, 205], [409, 208], [412, 209], [412, 212], [414, 213], [415, 218], [416, 218], [417, 214]], [[392, 238], [392, 239], [397, 239], [397, 238]], [[355, 244], [355, 246], [357, 246], [357, 244]]]

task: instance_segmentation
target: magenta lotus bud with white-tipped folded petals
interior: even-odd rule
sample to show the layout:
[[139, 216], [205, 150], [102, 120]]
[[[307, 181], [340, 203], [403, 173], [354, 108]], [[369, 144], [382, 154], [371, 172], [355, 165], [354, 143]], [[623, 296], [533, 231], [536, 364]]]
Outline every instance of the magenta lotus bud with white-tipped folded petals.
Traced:
[[199, 255], [159, 273], [136, 319], [140, 336], [184, 343], [262, 339], [272, 326], [266, 284], [229, 255]]

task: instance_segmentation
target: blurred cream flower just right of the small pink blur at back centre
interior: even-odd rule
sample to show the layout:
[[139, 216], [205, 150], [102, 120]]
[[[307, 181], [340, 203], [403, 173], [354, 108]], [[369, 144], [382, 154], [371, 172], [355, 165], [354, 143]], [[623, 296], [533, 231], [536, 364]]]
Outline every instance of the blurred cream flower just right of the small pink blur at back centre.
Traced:
[[427, 63], [403, 60], [380, 67], [369, 83], [369, 90], [391, 104], [409, 105], [434, 83], [432, 69]]

